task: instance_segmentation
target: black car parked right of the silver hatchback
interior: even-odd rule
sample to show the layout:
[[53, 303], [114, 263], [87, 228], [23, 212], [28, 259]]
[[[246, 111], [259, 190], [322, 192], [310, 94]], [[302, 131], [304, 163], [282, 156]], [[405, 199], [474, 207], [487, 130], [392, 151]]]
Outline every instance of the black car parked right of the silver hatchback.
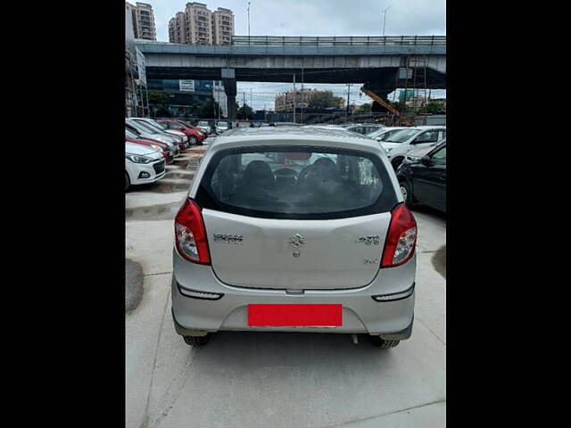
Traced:
[[446, 212], [446, 142], [418, 162], [402, 163], [397, 179], [409, 207], [422, 204]]

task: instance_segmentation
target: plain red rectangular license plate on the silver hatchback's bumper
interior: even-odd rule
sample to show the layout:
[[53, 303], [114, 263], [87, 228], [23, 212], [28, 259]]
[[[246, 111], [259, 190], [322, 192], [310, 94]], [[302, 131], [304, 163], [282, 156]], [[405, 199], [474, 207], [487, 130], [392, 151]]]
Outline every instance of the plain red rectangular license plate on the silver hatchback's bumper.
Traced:
[[248, 305], [251, 327], [338, 327], [343, 325], [341, 304]]

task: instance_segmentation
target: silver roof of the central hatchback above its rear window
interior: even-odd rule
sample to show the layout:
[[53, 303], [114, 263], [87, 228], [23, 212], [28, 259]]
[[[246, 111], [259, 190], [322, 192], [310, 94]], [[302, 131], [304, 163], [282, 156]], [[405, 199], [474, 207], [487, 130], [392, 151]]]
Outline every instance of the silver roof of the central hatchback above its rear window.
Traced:
[[319, 145], [384, 153], [368, 136], [344, 129], [310, 127], [233, 128], [216, 137], [209, 151], [252, 145]]

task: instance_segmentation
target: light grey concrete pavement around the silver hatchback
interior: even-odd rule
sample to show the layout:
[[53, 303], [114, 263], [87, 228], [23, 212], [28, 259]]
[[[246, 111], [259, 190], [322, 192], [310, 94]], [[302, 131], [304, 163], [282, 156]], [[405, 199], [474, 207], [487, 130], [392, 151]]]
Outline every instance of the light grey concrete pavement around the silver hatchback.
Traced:
[[[153, 198], [142, 192], [134, 193], [149, 198], [139, 204], [148, 209]], [[171, 194], [159, 204], [178, 203]], [[415, 325], [397, 348], [342, 334], [218, 333], [194, 349], [170, 317], [174, 213], [145, 217], [132, 196], [127, 257], [143, 267], [145, 292], [126, 316], [128, 428], [445, 426], [446, 281], [433, 264], [446, 241], [443, 217], [415, 212]]]

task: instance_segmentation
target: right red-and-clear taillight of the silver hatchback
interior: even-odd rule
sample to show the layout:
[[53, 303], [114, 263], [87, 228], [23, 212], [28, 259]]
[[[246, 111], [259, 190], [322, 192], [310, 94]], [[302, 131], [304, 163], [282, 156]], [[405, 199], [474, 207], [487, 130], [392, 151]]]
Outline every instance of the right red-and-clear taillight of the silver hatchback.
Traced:
[[409, 260], [417, 245], [417, 222], [404, 203], [391, 211], [391, 224], [385, 239], [381, 268], [399, 266]]

